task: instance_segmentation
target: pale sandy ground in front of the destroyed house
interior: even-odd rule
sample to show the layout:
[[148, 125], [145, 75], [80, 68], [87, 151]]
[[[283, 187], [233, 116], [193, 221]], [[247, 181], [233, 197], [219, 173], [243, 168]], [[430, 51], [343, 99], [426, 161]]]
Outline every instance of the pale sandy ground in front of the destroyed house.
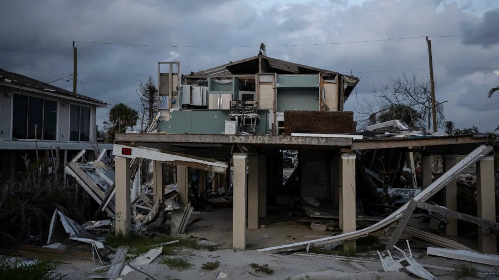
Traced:
[[[210, 256], [208, 256], [210, 255]], [[217, 251], [202, 250], [184, 250], [179, 252], [177, 257], [182, 258], [194, 266], [187, 270], [170, 269], [167, 265], [159, 263], [164, 256], [157, 257], [148, 265], [138, 266], [138, 268], [149, 274], [132, 271], [122, 276], [123, 280], [139, 279], [216, 279], [219, 271], [227, 273], [226, 279], [410, 279], [414, 278], [407, 272], [384, 272], [380, 263], [347, 261], [333, 261], [322, 258], [301, 257], [296, 255], [279, 255], [271, 253], [260, 253], [255, 250], [235, 251], [233, 249], [224, 249]], [[168, 257], [168, 256], [167, 256]], [[370, 258], [376, 259], [375, 256]], [[434, 265], [455, 266], [459, 263], [451, 260], [433, 257], [418, 257], [420, 263], [429, 263]], [[201, 269], [201, 265], [207, 261], [220, 262], [220, 266], [212, 271]], [[260, 265], [268, 264], [274, 272], [271, 275], [262, 272], [255, 272], [250, 263]], [[359, 266], [360, 265], [360, 266]], [[92, 268], [100, 265], [93, 265], [91, 262], [64, 263], [60, 264], [58, 271], [67, 274], [64, 279], [85, 279], [90, 275], [106, 273], [107, 268], [101, 271], [92, 272]], [[442, 271], [437, 269], [428, 269], [438, 279], [456, 279], [454, 272]], [[98, 273], [100, 272], [100, 273]], [[485, 276], [481, 274], [481, 278]], [[490, 276], [487, 279], [494, 279]], [[497, 278], [495, 278], [497, 279]]]

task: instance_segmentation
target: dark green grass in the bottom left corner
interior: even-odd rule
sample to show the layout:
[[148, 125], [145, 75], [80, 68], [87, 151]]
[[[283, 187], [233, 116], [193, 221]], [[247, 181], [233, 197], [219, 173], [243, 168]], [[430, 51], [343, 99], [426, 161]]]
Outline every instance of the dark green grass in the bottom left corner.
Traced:
[[56, 263], [50, 260], [35, 260], [31, 264], [23, 264], [20, 260], [9, 261], [0, 258], [0, 279], [9, 280], [60, 280], [65, 275], [55, 272]]

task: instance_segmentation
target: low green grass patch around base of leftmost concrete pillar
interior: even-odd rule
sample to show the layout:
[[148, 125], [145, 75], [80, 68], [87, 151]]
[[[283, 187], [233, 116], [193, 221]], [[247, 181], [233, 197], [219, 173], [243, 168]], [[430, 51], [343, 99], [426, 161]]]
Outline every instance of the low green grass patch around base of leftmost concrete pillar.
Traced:
[[175, 255], [175, 249], [184, 247], [190, 249], [202, 249], [202, 246], [198, 244], [198, 240], [196, 238], [185, 238], [184, 236], [178, 235], [164, 235], [164, 236], [155, 236], [153, 238], [149, 238], [146, 236], [140, 235], [130, 235], [124, 236], [123, 234], [118, 234], [116, 237], [114, 235], [108, 235], [104, 241], [107, 246], [118, 248], [120, 245], [125, 245], [130, 247], [130, 254], [140, 255], [143, 254], [150, 249], [152, 249], [152, 245], [170, 242], [179, 240], [177, 243], [172, 243], [169, 245], [163, 246], [163, 254], [165, 255]]

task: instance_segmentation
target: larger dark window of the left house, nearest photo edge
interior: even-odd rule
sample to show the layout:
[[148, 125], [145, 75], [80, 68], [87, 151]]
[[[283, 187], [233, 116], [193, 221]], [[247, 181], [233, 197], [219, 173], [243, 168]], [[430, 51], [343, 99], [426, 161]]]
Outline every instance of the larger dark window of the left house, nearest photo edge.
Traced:
[[56, 101], [14, 94], [12, 137], [56, 140], [56, 133]]

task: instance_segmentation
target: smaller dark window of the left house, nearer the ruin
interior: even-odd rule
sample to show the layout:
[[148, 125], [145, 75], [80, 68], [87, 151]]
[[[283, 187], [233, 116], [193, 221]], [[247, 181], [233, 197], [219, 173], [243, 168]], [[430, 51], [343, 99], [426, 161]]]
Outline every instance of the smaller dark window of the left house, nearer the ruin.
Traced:
[[69, 141], [90, 141], [90, 108], [71, 105]]

